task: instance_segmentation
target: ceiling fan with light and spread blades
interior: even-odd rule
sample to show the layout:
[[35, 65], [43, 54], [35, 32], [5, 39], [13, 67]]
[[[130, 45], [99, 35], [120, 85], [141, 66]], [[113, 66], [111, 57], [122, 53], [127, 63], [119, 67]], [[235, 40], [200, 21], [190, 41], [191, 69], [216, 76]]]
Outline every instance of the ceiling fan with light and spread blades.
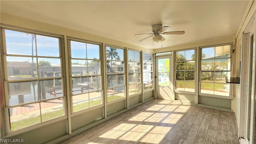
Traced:
[[[160, 41], [164, 41], [165, 38], [162, 36], [162, 34], [184, 34], [184, 31], [172, 31], [172, 32], [165, 32], [166, 30], [170, 29], [172, 27], [170, 26], [164, 26], [162, 27], [162, 24], [155, 24], [152, 26], [152, 32], [153, 33], [145, 33], [145, 34], [153, 34], [153, 41], [154, 42], [160, 42]], [[140, 35], [140, 34], [135, 34], [135, 35]], [[139, 42], [146, 40], [149, 37], [152, 36], [148, 36], [146, 38], [143, 38], [141, 40], [139, 40]]]

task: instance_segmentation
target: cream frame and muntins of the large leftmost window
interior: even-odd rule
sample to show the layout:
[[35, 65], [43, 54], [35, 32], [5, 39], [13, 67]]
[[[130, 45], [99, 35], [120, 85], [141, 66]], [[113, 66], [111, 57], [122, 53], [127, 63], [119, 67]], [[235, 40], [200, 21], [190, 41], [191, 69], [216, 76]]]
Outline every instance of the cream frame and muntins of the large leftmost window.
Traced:
[[[34, 35], [40, 35], [40, 36], [48, 36], [48, 37], [52, 37], [52, 38], [58, 38], [59, 39], [59, 56], [58, 57], [51, 57], [51, 56], [37, 56], [37, 49], [36, 49], [36, 54], [33, 54], [33, 56], [28, 56], [28, 55], [20, 55], [20, 54], [7, 54], [7, 50], [6, 50], [6, 43], [5, 43], [5, 30], [12, 30], [12, 31], [16, 31], [16, 32], [23, 32], [23, 33], [28, 33], [28, 34], [34, 34]], [[20, 134], [22, 132], [25, 132], [25, 131], [28, 131], [28, 130], [33, 130], [35, 128], [38, 128], [38, 127], [42, 127], [42, 126], [45, 126], [47, 124], [50, 124], [52, 122], [58, 122], [60, 120], [63, 120], [63, 119], [66, 119], [67, 118], [67, 107], [66, 107], [66, 91], [64, 89], [65, 87], [65, 83], [64, 83], [64, 76], [65, 76], [65, 72], [64, 72], [64, 66], [63, 66], [63, 62], [64, 62], [64, 59], [63, 59], [63, 54], [64, 54], [64, 36], [61, 36], [61, 35], [57, 35], [57, 34], [50, 34], [50, 33], [45, 33], [45, 32], [40, 32], [40, 31], [34, 31], [34, 30], [29, 30], [29, 29], [25, 29], [25, 28], [18, 28], [18, 27], [13, 27], [13, 26], [1, 26], [1, 33], [2, 33], [2, 51], [1, 51], [1, 57], [2, 57], [2, 64], [4, 66], [4, 68], [2, 68], [2, 73], [3, 73], [3, 78], [4, 78], [4, 97], [5, 97], [5, 111], [4, 111], [4, 114], [5, 114], [5, 121], [6, 121], [6, 131], [7, 131], [7, 135], [8, 136], [14, 136], [16, 134]], [[36, 42], [36, 40], [35, 40]], [[35, 44], [36, 45], [36, 44]], [[7, 56], [19, 56], [19, 57], [33, 57], [35, 59], [38, 59], [38, 58], [57, 58], [57, 59], [60, 59], [60, 71], [61, 71], [61, 76], [57, 77], [57, 78], [49, 78], [49, 77], [45, 77], [45, 78], [42, 78], [42, 77], [39, 77], [37, 76], [37, 78], [31, 78], [31, 79], [20, 79], [20, 80], [9, 80], [8, 79], [8, 72], [7, 72], [7, 61], [6, 61], [6, 57]], [[38, 66], [36, 66], [36, 70], [37, 72], [39, 73], [39, 69], [38, 69]], [[24, 102], [23, 104], [16, 104], [16, 105], [13, 105], [13, 106], [9, 106], [9, 102], [8, 102], [8, 84], [9, 83], [13, 83], [13, 82], [32, 82], [32, 81], [36, 81], [38, 82], [38, 84], [40, 83], [40, 81], [42, 80], [54, 80], [54, 79], [61, 79], [62, 81], [62, 96], [58, 96], [56, 98], [48, 98], [48, 99], [41, 99], [41, 95], [38, 94], [38, 97], [39, 99], [37, 101], [33, 101], [33, 102]], [[40, 91], [40, 86], [38, 86], [38, 92]], [[53, 118], [53, 119], [50, 119], [50, 120], [46, 120], [46, 121], [42, 121], [42, 112], [41, 110], [44, 109], [44, 108], [41, 108], [40, 107], [40, 123], [37, 123], [37, 124], [32, 124], [30, 126], [26, 126], [24, 128], [20, 128], [20, 129], [17, 129], [17, 130], [13, 130], [11, 131], [11, 126], [10, 126], [10, 116], [9, 116], [9, 108], [14, 108], [14, 107], [18, 107], [18, 106], [25, 106], [25, 105], [28, 105], [28, 104], [36, 104], [38, 103], [40, 105], [40, 103], [42, 102], [46, 102], [46, 101], [49, 101], [49, 100], [55, 100], [55, 99], [59, 99], [59, 98], [62, 98], [62, 104], [63, 104], [63, 115], [62, 116], [59, 116], [59, 117], [56, 117], [56, 118]]]

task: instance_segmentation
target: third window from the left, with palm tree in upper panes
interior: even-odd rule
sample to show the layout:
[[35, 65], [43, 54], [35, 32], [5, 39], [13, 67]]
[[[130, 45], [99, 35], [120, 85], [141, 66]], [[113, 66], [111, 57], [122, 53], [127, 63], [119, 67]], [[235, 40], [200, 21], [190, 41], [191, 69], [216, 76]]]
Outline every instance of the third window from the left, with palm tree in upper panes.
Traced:
[[126, 97], [124, 49], [106, 46], [107, 102]]

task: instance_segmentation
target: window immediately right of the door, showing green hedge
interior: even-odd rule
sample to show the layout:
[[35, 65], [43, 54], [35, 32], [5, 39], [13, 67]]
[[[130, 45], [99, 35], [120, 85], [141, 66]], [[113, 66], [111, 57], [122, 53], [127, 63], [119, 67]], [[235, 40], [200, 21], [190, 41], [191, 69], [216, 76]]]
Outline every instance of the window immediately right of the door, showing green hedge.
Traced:
[[195, 50], [175, 52], [176, 90], [195, 92]]

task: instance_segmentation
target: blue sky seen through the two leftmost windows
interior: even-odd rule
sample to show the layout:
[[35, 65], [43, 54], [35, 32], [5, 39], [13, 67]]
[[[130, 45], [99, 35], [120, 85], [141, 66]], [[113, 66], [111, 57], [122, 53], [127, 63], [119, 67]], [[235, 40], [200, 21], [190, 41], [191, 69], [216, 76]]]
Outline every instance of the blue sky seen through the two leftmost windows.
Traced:
[[[24, 33], [12, 30], [5, 30], [6, 35], [6, 51], [7, 54], [26, 55], [27, 57], [8, 56], [7, 61], [32, 62], [32, 55], [50, 56], [56, 58], [38, 58], [38, 61], [45, 60], [51, 62], [52, 66], [60, 64], [59, 39]], [[33, 43], [33, 46], [32, 46]], [[99, 58], [99, 46], [95, 44], [85, 44], [82, 42], [71, 42], [72, 58]], [[33, 49], [33, 50], [32, 50]], [[32, 54], [33, 53], [33, 54]], [[36, 62], [36, 58], [33, 59]]]

